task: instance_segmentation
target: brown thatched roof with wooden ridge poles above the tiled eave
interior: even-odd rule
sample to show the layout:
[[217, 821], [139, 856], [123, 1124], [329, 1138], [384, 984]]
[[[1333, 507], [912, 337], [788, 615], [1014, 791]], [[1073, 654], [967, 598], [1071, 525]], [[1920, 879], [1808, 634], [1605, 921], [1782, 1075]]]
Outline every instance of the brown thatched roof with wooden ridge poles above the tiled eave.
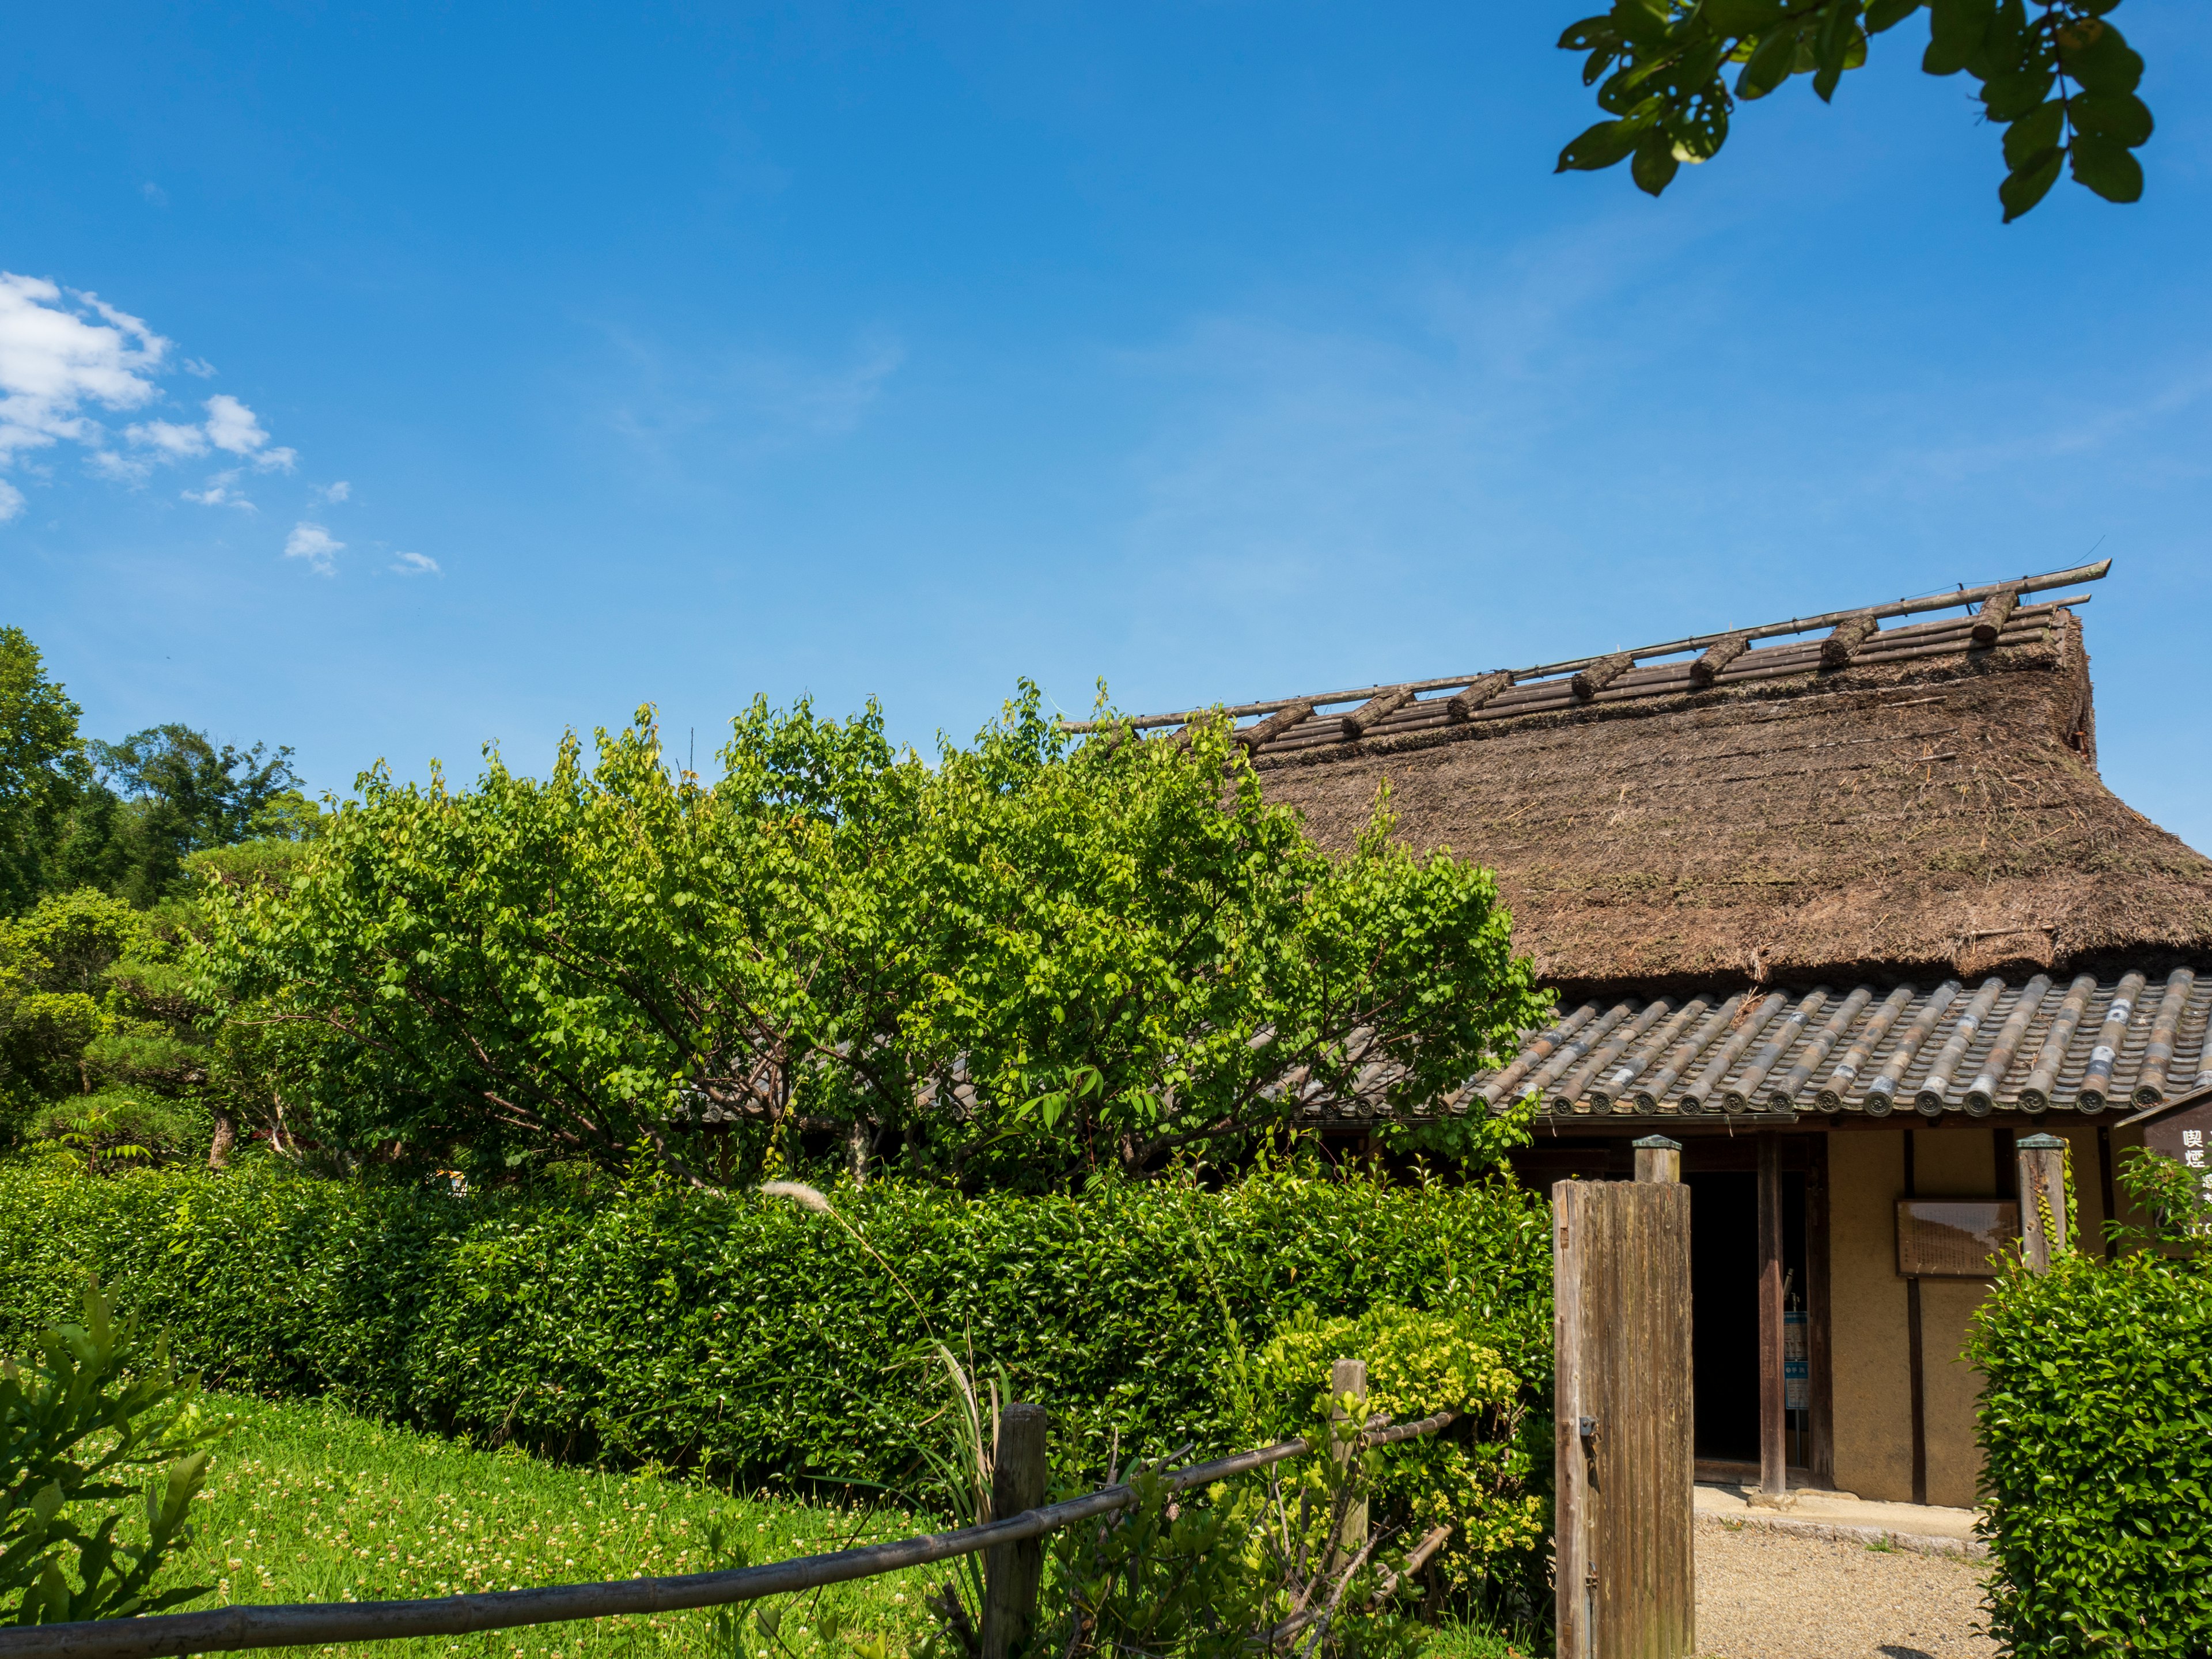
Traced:
[[2212, 860], [2104, 787], [2084, 597], [2031, 597], [2104, 571], [1139, 726], [1243, 719], [1267, 796], [1329, 847], [1387, 781], [1402, 838], [1498, 872], [1564, 1006], [2157, 984], [2212, 967]]

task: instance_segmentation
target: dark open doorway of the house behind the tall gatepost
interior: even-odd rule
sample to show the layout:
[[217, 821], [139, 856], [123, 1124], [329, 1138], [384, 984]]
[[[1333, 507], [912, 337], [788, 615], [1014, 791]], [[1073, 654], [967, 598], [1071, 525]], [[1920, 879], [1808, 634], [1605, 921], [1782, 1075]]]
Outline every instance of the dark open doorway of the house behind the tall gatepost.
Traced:
[[[1759, 1464], [1759, 1177], [1692, 1172], [1690, 1316], [1699, 1462]], [[1783, 1170], [1783, 1301], [1805, 1307], [1805, 1177]], [[1803, 1464], [1803, 1411], [1790, 1462]]]

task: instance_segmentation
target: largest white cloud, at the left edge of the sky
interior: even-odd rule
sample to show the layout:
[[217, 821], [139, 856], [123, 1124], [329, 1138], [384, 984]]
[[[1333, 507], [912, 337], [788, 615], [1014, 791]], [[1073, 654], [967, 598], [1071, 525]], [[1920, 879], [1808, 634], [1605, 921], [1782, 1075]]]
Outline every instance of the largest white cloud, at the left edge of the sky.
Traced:
[[97, 294], [0, 272], [0, 467], [53, 442], [100, 447], [86, 405], [142, 409], [168, 341]]

